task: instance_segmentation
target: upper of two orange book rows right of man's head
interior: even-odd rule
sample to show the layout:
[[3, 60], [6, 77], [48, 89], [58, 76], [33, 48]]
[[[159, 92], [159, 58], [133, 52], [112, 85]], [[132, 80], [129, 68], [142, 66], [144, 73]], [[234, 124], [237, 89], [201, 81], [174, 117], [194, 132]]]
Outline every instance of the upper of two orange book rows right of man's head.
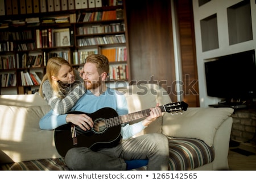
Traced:
[[101, 49], [101, 53], [108, 57], [110, 62], [127, 61], [126, 47]]

